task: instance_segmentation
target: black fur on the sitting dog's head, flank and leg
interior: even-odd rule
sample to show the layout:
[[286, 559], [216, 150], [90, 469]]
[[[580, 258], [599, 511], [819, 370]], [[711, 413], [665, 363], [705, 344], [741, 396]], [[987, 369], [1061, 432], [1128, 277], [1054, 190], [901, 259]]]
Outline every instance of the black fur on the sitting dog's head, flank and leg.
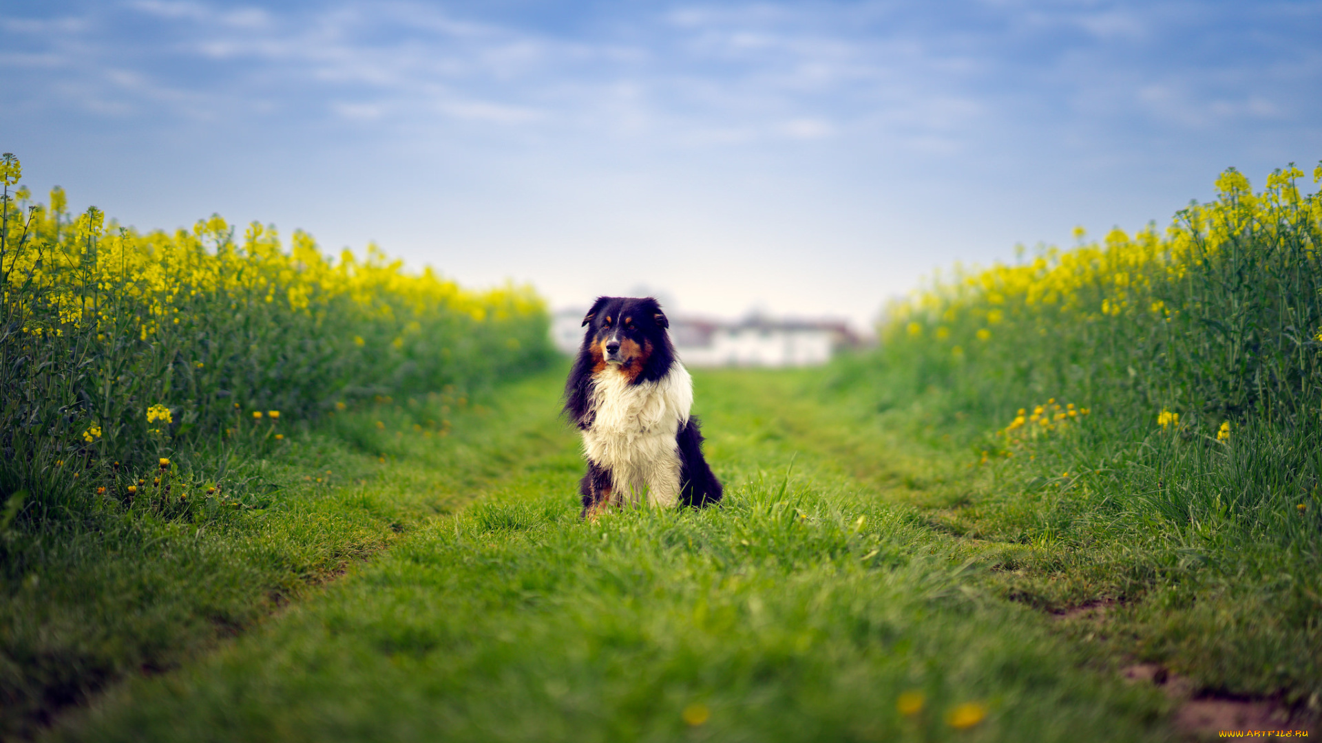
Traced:
[[[632, 319], [633, 324], [623, 331], [619, 324], [625, 319]], [[570, 369], [570, 377], [564, 383], [564, 415], [579, 427], [588, 430], [592, 427], [592, 412], [588, 403], [592, 394], [592, 374], [602, 362], [600, 352], [594, 354], [594, 346], [609, 334], [611, 328], [623, 333], [624, 337], [649, 349], [646, 361], [637, 370], [633, 383], [644, 381], [654, 382], [670, 372], [676, 361], [674, 344], [670, 342], [669, 319], [661, 309], [661, 304], [650, 297], [621, 297], [599, 296], [592, 303], [583, 317], [587, 328], [583, 333], [583, 344], [579, 346], [578, 357]], [[698, 428], [698, 419], [690, 416], [678, 434], [676, 442], [680, 447], [681, 481], [683, 483], [680, 502], [686, 506], [706, 506], [720, 500], [722, 487], [711, 467], [702, 456], [702, 434]], [[587, 473], [579, 483], [579, 493], [583, 496], [583, 514], [596, 505], [611, 487], [611, 472], [594, 461], [587, 463]]]

